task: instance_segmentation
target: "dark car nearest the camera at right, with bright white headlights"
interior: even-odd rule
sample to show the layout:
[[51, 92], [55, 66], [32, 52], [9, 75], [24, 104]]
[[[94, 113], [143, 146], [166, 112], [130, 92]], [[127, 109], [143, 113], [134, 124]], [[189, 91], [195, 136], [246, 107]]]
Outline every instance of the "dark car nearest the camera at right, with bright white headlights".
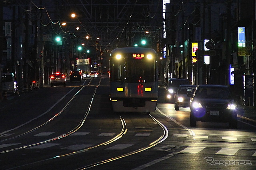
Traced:
[[196, 121], [229, 123], [237, 128], [237, 111], [232, 92], [228, 86], [201, 84], [190, 97], [190, 126]]

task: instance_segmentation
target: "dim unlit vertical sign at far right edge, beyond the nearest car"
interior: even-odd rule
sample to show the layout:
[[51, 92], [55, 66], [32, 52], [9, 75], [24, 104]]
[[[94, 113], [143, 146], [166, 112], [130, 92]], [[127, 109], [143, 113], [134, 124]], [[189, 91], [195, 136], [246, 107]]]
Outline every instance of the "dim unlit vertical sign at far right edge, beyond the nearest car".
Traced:
[[251, 75], [245, 76], [245, 104], [249, 106], [249, 98], [250, 98], [250, 106], [253, 106], [253, 77]]

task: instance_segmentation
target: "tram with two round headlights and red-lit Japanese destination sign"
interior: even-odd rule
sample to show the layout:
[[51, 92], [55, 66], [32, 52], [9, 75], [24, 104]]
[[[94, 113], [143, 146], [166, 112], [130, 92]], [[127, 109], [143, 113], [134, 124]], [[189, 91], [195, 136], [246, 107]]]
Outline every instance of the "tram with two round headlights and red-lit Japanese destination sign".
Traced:
[[155, 111], [158, 98], [157, 53], [142, 47], [117, 48], [110, 54], [113, 111]]

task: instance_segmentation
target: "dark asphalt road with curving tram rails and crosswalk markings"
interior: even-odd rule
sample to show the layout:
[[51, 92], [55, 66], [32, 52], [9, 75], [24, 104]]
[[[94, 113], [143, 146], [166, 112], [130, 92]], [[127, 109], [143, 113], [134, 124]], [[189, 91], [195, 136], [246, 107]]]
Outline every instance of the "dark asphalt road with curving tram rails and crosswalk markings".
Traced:
[[256, 169], [256, 127], [190, 127], [159, 88], [146, 113], [113, 113], [109, 79], [45, 86], [0, 102], [0, 169]]

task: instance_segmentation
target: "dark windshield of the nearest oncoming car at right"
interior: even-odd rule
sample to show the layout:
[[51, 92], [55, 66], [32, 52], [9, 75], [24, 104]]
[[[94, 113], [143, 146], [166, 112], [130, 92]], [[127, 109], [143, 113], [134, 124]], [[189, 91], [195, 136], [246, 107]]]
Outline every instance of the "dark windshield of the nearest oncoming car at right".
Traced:
[[230, 98], [232, 98], [232, 94], [231, 94], [229, 88], [202, 87], [197, 90], [195, 97], [230, 99]]

